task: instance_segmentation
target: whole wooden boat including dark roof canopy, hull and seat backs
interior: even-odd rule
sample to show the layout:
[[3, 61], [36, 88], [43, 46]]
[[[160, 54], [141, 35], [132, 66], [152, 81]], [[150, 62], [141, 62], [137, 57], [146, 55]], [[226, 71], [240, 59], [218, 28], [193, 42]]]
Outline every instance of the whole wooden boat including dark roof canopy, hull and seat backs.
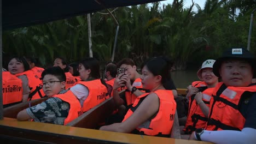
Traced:
[[[30, 26], [92, 13], [106, 8], [156, 1], [161, 0], [24, 0], [22, 2], [9, 0], [3, 1], [3, 3], [0, 0], [3, 8], [3, 16], [0, 13], [0, 39], [2, 39], [2, 29]], [[2, 18], [4, 21], [2, 21]], [[1, 40], [0, 51], [2, 51]], [[0, 63], [0, 67], [2, 67], [2, 53], [0, 53]], [[0, 82], [2, 82], [2, 71], [0, 72]], [[2, 89], [2, 83], [0, 88]], [[185, 92], [183, 89], [178, 89], [178, 93], [184, 94]], [[95, 106], [67, 125], [18, 121], [16, 119], [20, 110], [42, 103], [47, 98], [17, 104], [4, 110], [2, 98], [2, 93], [0, 93], [0, 139], [6, 140], [8, 143], [209, 143], [96, 130], [98, 123], [102, 122], [116, 109], [112, 98]]]

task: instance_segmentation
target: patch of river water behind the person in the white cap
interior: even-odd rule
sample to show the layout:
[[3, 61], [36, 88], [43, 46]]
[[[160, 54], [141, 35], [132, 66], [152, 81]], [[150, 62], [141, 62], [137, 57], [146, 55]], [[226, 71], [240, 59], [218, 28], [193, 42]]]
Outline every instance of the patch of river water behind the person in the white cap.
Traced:
[[199, 81], [197, 70], [174, 70], [171, 77], [176, 88], [187, 88], [193, 81]]

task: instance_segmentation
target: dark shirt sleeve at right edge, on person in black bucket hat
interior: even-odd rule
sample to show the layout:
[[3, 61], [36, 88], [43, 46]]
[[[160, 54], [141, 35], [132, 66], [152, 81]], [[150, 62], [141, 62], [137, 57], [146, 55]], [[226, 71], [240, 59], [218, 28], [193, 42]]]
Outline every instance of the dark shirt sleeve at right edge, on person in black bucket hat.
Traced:
[[243, 100], [239, 111], [246, 119], [244, 128], [256, 129], [256, 93]]

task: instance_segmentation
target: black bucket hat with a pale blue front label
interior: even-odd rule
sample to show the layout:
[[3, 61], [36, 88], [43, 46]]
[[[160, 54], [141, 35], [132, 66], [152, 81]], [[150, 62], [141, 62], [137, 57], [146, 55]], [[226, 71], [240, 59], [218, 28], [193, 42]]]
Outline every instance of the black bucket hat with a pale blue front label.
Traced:
[[244, 60], [248, 61], [252, 65], [252, 68], [254, 70], [253, 77], [256, 76], [256, 70], [254, 69], [255, 62], [256, 62], [255, 57], [253, 56], [253, 54], [251, 52], [249, 52], [248, 50], [243, 49], [243, 48], [226, 49], [222, 53], [222, 57], [218, 58], [216, 60], [216, 62], [213, 64], [214, 75], [220, 77], [219, 68], [220, 68], [220, 65], [222, 64], [222, 62], [226, 59], [244, 59]]

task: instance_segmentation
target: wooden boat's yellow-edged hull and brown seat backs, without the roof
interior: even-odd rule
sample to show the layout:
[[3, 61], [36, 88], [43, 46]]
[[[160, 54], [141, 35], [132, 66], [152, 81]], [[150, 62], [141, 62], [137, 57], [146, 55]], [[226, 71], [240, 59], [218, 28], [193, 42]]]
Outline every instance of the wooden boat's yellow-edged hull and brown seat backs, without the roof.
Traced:
[[[185, 89], [177, 90], [179, 95], [185, 93]], [[95, 130], [98, 123], [116, 109], [113, 98], [107, 99], [67, 125], [18, 121], [15, 118], [20, 110], [42, 103], [46, 99], [32, 100], [5, 108], [4, 119], [0, 120], [0, 139], [19, 143], [208, 143]]]

